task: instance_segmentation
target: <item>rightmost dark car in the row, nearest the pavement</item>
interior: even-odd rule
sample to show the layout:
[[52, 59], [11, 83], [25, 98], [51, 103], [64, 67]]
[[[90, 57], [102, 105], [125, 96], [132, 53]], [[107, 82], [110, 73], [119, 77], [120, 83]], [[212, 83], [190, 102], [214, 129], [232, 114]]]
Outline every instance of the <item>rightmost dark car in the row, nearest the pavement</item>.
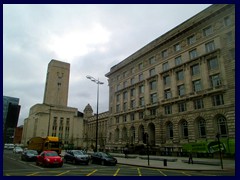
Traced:
[[116, 165], [117, 159], [111, 156], [108, 153], [104, 152], [95, 152], [91, 155], [92, 163], [101, 164], [101, 165]]

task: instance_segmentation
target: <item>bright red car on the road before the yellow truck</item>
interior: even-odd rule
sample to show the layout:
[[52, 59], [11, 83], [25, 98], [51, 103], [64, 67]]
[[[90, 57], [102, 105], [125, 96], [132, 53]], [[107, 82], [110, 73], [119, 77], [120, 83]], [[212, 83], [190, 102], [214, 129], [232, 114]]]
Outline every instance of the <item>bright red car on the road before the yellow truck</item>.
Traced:
[[62, 167], [63, 160], [56, 151], [43, 151], [37, 156], [36, 165]]

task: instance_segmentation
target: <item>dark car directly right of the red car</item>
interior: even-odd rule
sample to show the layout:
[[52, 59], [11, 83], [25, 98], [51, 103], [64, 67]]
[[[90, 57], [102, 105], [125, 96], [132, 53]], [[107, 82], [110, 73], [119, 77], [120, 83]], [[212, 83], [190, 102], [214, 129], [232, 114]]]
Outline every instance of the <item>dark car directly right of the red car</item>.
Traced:
[[64, 161], [71, 162], [73, 164], [88, 164], [89, 160], [89, 155], [81, 150], [68, 150], [64, 155]]

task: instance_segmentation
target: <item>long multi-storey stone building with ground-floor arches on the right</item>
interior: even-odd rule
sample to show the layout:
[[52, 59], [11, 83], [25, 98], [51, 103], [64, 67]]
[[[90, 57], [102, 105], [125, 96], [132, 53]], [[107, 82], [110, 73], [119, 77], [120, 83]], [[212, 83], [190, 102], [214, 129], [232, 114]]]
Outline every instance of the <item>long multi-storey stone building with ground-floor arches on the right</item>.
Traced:
[[106, 74], [107, 144], [160, 151], [235, 139], [235, 5], [212, 5]]

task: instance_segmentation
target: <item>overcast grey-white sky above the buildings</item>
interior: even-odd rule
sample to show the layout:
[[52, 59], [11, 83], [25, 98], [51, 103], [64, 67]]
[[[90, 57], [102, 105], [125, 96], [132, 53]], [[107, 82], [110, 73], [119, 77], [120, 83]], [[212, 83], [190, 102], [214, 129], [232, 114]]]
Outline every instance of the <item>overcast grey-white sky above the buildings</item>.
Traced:
[[157, 37], [209, 7], [208, 4], [11, 5], [3, 4], [3, 95], [20, 99], [19, 125], [43, 103], [51, 59], [70, 63], [68, 106], [108, 111], [105, 74]]

